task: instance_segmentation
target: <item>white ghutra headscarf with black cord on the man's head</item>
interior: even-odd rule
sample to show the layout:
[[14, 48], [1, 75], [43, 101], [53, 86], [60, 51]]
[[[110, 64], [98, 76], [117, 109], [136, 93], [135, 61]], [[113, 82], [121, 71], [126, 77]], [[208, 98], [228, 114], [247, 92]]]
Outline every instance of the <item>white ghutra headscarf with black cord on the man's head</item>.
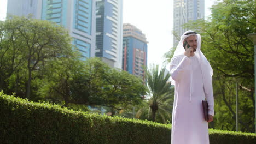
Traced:
[[[199, 59], [199, 62], [201, 65], [203, 82], [212, 82], [213, 70], [210, 63], [206, 59], [205, 55], [203, 55], [201, 51], [201, 35], [200, 34], [197, 34], [191, 30], [183, 33], [183, 35], [181, 36], [181, 40], [179, 41], [179, 44], [176, 47], [173, 57], [176, 57], [178, 55], [184, 55], [185, 49], [183, 47], [183, 41], [191, 35], [196, 35], [197, 37], [197, 49], [195, 51], [195, 57]], [[171, 65], [172, 65], [172, 62], [171, 62]], [[171, 83], [172, 85], [175, 85], [175, 81], [172, 79], [171, 79]]]

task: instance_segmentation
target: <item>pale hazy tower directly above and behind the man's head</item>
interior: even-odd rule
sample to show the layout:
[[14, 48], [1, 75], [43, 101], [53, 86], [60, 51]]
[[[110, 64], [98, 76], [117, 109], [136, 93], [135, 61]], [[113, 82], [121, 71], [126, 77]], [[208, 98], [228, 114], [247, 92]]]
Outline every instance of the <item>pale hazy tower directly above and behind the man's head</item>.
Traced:
[[[181, 36], [188, 29], [182, 28], [190, 20], [203, 19], [205, 16], [205, 0], [174, 0], [173, 1], [173, 30]], [[179, 40], [173, 37], [173, 45]]]

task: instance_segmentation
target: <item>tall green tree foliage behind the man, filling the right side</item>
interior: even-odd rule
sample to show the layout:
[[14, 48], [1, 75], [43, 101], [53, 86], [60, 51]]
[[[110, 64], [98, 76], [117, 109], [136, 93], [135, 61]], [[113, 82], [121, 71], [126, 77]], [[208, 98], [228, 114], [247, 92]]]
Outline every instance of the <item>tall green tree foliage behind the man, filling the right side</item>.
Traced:
[[[224, 0], [211, 8], [209, 21], [190, 21], [185, 25], [201, 34], [201, 50], [213, 74], [215, 121], [211, 127], [235, 130], [236, 89], [239, 86], [240, 130], [254, 129], [254, 53], [247, 34], [255, 33], [255, 1]], [[167, 56], [171, 56], [171, 51]], [[168, 57], [170, 59], [170, 57]]]

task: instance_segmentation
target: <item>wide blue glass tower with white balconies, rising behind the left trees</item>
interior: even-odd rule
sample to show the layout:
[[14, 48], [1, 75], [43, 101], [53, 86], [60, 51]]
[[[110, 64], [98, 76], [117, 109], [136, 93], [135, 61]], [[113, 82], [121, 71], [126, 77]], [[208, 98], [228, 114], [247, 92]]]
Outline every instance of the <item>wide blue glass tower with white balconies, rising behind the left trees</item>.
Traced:
[[83, 60], [94, 56], [94, 4], [91, 0], [43, 0], [42, 3], [42, 19], [68, 28], [73, 45], [82, 53]]

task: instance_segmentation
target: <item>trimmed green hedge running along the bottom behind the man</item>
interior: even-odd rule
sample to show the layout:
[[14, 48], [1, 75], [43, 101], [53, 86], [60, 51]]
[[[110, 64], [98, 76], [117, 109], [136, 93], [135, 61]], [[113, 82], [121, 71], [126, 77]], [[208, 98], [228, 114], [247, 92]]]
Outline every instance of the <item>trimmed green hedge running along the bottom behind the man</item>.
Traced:
[[[171, 125], [73, 111], [3, 92], [0, 118], [0, 143], [171, 143]], [[211, 129], [210, 143], [256, 143], [256, 134]]]

